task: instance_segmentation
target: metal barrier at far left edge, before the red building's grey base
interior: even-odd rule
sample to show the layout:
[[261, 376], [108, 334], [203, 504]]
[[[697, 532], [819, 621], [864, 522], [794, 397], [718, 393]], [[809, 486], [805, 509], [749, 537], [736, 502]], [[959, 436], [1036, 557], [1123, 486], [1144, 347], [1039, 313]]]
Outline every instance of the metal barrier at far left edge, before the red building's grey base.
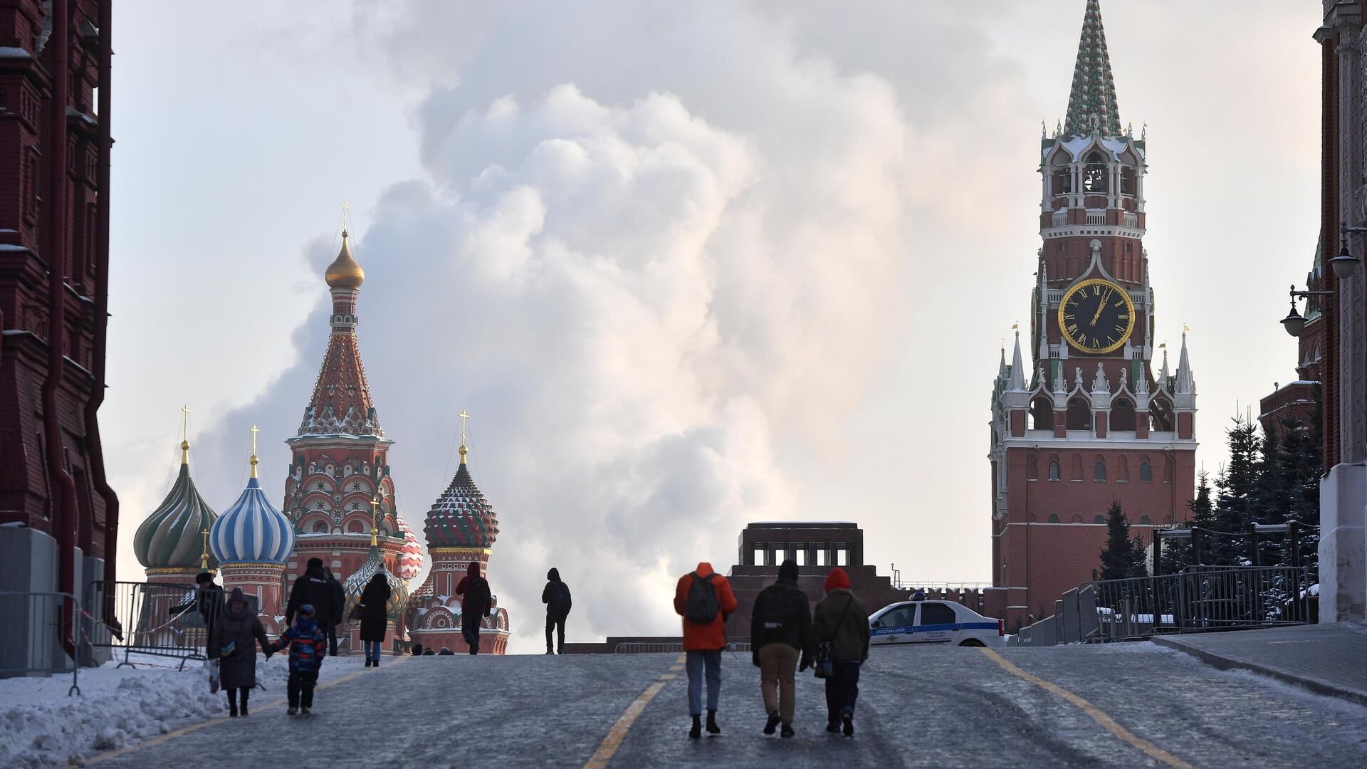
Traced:
[[81, 666], [62, 647], [62, 616], [72, 616], [70, 592], [0, 592], [0, 679], [71, 673], [67, 696], [81, 694]]

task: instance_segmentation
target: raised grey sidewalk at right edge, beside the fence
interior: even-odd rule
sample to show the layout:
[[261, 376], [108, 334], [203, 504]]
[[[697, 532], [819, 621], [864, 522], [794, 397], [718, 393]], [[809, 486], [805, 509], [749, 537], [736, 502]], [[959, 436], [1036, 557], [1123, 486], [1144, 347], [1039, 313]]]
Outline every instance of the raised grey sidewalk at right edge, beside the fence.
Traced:
[[1367, 705], [1367, 621], [1155, 638], [1218, 668], [1255, 670]]

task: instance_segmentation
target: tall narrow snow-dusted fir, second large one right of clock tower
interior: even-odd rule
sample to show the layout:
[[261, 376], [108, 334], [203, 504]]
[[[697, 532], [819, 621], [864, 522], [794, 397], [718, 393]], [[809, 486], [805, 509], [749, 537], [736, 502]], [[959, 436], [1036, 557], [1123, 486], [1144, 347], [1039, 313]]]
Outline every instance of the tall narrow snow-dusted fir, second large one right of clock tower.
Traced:
[[1229, 464], [1215, 479], [1219, 497], [1215, 502], [1215, 535], [1211, 536], [1210, 560], [1221, 566], [1239, 566], [1248, 562], [1248, 524], [1260, 517], [1259, 478], [1263, 452], [1258, 427], [1251, 419], [1234, 417], [1234, 426], [1226, 435]]

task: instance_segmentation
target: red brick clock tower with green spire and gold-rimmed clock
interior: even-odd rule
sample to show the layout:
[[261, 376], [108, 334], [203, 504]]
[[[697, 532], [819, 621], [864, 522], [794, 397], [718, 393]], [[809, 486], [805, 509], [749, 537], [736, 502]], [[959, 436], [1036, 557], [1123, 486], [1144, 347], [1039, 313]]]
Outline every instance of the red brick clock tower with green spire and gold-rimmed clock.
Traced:
[[1196, 389], [1187, 338], [1177, 371], [1151, 369], [1154, 291], [1143, 237], [1144, 135], [1118, 119], [1098, 0], [1088, 0], [1068, 116], [1040, 141], [1040, 237], [1032, 313], [992, 390], [992, 584], [1043, 617], [1092, 579], [1118, 499], [1137, 536], [1185, 520], [1195, 487]]

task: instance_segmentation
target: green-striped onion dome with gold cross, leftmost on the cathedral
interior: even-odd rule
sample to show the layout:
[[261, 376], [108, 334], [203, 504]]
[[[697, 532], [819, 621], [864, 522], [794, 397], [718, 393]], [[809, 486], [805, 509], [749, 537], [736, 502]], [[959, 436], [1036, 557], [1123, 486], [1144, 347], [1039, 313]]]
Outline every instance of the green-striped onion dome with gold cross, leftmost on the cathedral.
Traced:
[[[190, 479], [190, 443], [180, 442], [180, 475], [165, 499], [133, 536], [133, 553], [145, 569], [194, 569], [204, 565], [204, 530], [219, 517]], [[209, 566], [215, 565], [213, 560]]]

